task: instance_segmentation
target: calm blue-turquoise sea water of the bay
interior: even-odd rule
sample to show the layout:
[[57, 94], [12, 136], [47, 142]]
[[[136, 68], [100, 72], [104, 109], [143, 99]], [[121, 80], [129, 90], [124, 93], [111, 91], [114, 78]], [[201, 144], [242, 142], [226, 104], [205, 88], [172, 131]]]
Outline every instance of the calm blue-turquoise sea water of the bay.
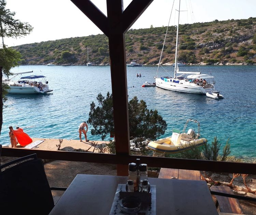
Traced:
[[[173, 76], [173, 67], [165, 66]], [[34, 138], [79, 140], [78, 126], [87, 121], [90, 103], [97, 95], [111, 91], [109, 66], [19, 66], [13, 73], [31, 71], [47, 76], [48, 95], [8, 95], [3, 110], [0, 143], [9, 144], [9, 126], [19, 126]], [[232, 155], [256, 157], [256, 80], [255, 66], [201, 66], [204, 74], [215, 76], [216, 89], [223, 100], [205, 95], [185, 94], [157, 87], [142, 88], [144, 82], [154, 82], [156, 66], [127, 67], [129, 99], [143, 99], [148, 109], [157, 109], [168, 128], [161, 138], [171, 135], [172, 128], [182, 130], [186, 119], [200, 121], [201, 135], [212, 142], [217, 136], [225, 145], [229, 138]], [[197, 71], [197, 66], [181, 67], [181, 71]], [[136, 77], [141, 73], [142, 77]], [[164, 70], [159, 75], [167, 76]], [[29, 74], [27, 74], [29, 75]], [[25, 76], [25, 75], [24, 75]], [[90, 134], [88, 139], [100, 140]], [[107, 140], [109, 137], [106, 138]]]

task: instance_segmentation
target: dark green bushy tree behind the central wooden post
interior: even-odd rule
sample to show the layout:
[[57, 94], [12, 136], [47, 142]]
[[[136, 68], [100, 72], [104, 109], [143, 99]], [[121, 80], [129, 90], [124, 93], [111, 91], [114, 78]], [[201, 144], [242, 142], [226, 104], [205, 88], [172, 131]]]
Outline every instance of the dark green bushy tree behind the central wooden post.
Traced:
[[[99, 94], [97, 96], [99, 106], [92, 102], [90, 104], [88, 124], [93, 126], [92, 135], [101, 135], [102, 140], [110, 132], [114, 131], [113, 101], [109, 92], [106, 98]], [[148, 110], [146, 102], [138, 101], [133, 97], [128, 102], [130, 139], [141, 138], [155, 140], [165, 133], [166, 121], [158, 114], [157, 110]]]

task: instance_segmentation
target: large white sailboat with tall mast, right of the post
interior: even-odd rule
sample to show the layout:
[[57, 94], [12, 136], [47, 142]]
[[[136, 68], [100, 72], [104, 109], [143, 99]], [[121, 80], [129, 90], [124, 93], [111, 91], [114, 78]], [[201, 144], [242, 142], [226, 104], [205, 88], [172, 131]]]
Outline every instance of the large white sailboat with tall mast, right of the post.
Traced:
[[[178, 54], [178, 38], [179, 38], [179, 21], [180, 21], [180, 3], [179, 2], [179, 17], [177, 24], [177, 34], [176, 34], [176, 47], [175, 47], [175, 64], [174, 64], [174, 76], [173, 77], [158, 77], [157, 74], [154, 77], [155, 83], [157, 87], [167, 90], [173, 90], [177, 92], [187, 92], [193, 94], [206, 94], [207, 92], [211, 92], [215, 90], [215, 81], [212, 75], [201, 74], [201, 72], [182, 72], [179, 71], [179, 63], [177, 61]], [[169, 27], [169, 24], [168, 24]], [[168, 31], [167, 27], [167, 31]], [[166, 31], [166, 34], [167, 34]], [[166, 40], [166, 36], [165, 36]], [[163, 42], [163, 48], [165, 45], [165, 41]], [[162, 48], [162, 52], [163, 52]], [[158, 68], [161, 62], [162, 52], [160, 56], [160, 60], [158, 63]], [[158, 73], [158, 69], [157, 69]], [[180, 75], [178, 75], [180, 74]]]

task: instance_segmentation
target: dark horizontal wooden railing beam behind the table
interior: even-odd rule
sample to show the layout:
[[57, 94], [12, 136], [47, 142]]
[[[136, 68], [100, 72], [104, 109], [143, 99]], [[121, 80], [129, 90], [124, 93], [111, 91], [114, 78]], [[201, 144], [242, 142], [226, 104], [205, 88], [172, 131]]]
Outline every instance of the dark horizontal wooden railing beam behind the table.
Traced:
[[38, 149], [8, 147], [2, 148], [2, 156], [23, 157], [26, 155], [31, 155], [33, 153], [37, 153], [38, 157], [42, 159], [81, 161], [92, 163], [112, 163], [123, 164], [126, 166], [128, 166], [130, 162], [136, 163], [136, 159], [139, 158], [140, 162], [147, 163], [148, 167], [162, 167], [184, 170], [204, 170], [212, 172], [242, 173], [256, 175], [256, 163], [236, 163], [211, 160], [161, 158], [122, 154], [114, 155], [87, 152], [46, 151]]

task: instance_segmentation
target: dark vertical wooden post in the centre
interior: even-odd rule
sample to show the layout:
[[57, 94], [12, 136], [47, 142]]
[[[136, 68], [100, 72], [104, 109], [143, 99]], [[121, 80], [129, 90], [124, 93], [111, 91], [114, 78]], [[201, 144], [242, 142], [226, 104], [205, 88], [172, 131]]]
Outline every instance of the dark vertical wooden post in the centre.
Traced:
[[[107, 0], [109, 32], [109, 55], [114, 110], [116, 155], [130, 153], [129, 114], [126, 76], [125, 37], [123, 33], [122, 0]], [[122, 166], [117, 166], [117, 175], [124, 175]]]

